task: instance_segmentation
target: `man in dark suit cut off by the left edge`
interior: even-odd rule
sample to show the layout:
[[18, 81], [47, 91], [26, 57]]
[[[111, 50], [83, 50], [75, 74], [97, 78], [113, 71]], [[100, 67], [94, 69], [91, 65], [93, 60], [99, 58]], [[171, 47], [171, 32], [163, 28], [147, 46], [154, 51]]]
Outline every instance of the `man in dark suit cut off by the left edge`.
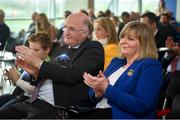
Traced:
[[0, 50], [3, 50], [4, 45], [10, 36], [9, 27], [4, 22], [5, 13], [0, 9]]

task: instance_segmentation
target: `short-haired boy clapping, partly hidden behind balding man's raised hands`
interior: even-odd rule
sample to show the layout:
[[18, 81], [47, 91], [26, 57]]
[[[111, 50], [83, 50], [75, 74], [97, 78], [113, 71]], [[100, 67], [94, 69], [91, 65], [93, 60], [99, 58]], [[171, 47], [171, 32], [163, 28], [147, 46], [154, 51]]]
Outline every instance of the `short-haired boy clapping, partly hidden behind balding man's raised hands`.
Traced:
[[[51, 49], [52, 43], [49, 36], [46, 33], [39, 32], [36, 34], [32, 34], [28, 42], [30, 45], [30, 49], [36, 51], [39, 54], [38, 56], [40, 59], [50, 61], [48, 53]], [[5, 75], [8, 77], [8, 80], [10, 80], [13, 83], [13, 85], [16, 85], [18, 87], [15, 88], [15, 90], [20, 91], [18, 92], [20, 93], [20, 95], [16, 96], [14, 93], [12, 95], [6, 94], [0, 96], [0, 101], [4, 101], [4, 105], [2, 105], [0, 109], [5, 109], [16, 102], [20, 102], [31, 97], [31, 94], [35, 89], [35, 86], [30, 85], [32, 76], [25, 71], [22, 73], [20, 77], [20, 73], [18, 72], [17, 68], [13, 67], [10, 70], [6, 71]], [[19, 88], [24, 92], [21, 92]]]

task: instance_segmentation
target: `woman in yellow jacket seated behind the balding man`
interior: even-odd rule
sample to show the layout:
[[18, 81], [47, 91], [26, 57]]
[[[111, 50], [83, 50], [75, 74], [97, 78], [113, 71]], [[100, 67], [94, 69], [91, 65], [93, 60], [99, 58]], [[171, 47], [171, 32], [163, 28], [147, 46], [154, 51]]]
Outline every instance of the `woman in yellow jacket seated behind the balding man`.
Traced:
[[120, 55], [115, 27], [110, 18], [101, 17], [94, 21], [94, 30], [95, 40], [99, 41], [104, 47], [104, 69], [106, 69], [111, 59]]

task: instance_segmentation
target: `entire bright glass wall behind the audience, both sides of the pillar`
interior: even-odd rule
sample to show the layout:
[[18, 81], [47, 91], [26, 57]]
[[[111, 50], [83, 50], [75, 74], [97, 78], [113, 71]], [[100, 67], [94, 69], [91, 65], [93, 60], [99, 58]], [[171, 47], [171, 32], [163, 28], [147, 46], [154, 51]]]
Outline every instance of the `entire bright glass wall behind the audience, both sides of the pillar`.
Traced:
[[[120, 16], [123, 11], [144, 12], [146, 10], [155, 12], [158, 0], [94, 0], [95, 14], [98, 11], [110, 9], [115, 15]], [[27, 30], [31, 23], [33, 11], [45, 13], [51, 22], [58, 28], [64, 21], [65, 10], [77, 12], [80, 9], [88, 9], [91, 0], [0, 0], [0, 9], [6, 13], [6, 23], [11, 31], [18, 33]]]

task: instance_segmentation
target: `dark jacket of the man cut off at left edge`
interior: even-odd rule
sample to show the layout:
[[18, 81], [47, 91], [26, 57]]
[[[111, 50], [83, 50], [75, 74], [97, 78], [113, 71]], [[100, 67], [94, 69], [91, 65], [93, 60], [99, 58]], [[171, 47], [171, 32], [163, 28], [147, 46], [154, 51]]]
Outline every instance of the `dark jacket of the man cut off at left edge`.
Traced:
[[9, 27], [5, 23], [0, 24], [0, 42], [1, 42], [0, 50], [3, 50], [4, 45], [9, 36], [10, 36]]

